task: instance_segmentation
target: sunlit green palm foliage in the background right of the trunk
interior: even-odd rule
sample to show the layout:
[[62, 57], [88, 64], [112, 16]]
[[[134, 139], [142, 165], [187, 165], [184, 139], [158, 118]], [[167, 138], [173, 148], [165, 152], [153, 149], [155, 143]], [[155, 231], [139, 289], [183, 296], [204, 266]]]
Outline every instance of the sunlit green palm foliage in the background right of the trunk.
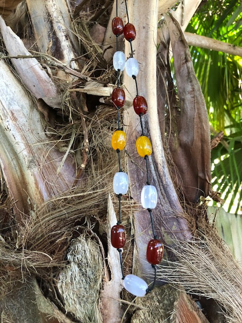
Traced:
[[[240, 2], [208, 0], [187, 31], [242, 46], [241, 25]], [[190, 49], [210, 124], [217, 132], [224, 132], [228, 144], [228, 149], [219, 145], [212, 150], [212, 184], [221, 193], [228, 212], [241, 212], [242, 58], [194, 46]]]

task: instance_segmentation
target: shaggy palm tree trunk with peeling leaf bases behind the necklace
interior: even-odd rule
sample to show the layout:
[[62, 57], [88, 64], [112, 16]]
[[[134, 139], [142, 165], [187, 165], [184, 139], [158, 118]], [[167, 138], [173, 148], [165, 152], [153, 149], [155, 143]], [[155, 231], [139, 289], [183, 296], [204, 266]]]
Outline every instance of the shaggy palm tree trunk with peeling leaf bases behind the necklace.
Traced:
[[[179, 248], [184, 241], [193, 239], [193, 229], [199, 225], [196, 221], [194, 225], [194, 212], [189, 213], [192, 207], [184, 206], [184, 196], [189, 206], [192, 203], [196, 214], [204, 214], [196, 202], [200, 195], [207, 196], [210, 185], [209, 125], [204, 113], [203, 97], [193, 74], [183, 34], [169, 17], [166, 22], [174, 52], [177, 88], [180, 92], [192, 89], [192, 95], [178, 93], [183, 98], [183, 118], [175, 114], [173, 105], [170, 115], [176, 118], [177, 128], [182, 128], [191, 119], [195, 122], [188, 130], [194, 139], [192, 144], [191, 140], [186, 141], [186, 136], [181, 138], [182, 131], [176, 137], [179, 151], [175, 149], [177, 146], [172, 146], [173, 142], [169, 142], [167, 147], [164, 141], [165, 127], [168, 126], [167, 121], [163, 122], [164, 108], [157, 104], [160, 84], [157, 86], [156, 83], [157, 17], [158, 8], [161, 10], [164, 6], [166, 10], [173, 4], [173, 1], [161, 3], [157, 0], [128, 2], [130, 21], [137, 30], [133, 49], [140, 65], [137, 78], [139, 94], [146, 97], [149, 106], [149, 113], [144, 117], [144, 129], [153, 145], [149, 174], [159, 196], [154, 211], [155, 229], [167, 246], [167, 260], [174, 257], [175, 251], [179, 251], [172, 250], [174, 247]], [[121, 293], [118, 253], [110, 244], [110, 228], [116, 222], [115, 197], [110, 196], [114, 155], [110, 152], [109, 142], [106, 143], [111, 135], [110, 129], [115, 126], [115, 111], [110, 108], [108, 99], [112, 86], [108, 85], [104, 87], [105, 91], [100, 92], [103, 83], [110, 83], [110, 73], [107, 73], [108, 76], [99, 74], [107, 70], [108, 65], [101, 56], [102, 48], [93, 44], [86, 25], [82, 29], [85, 36], [78, 35], [72, 29], [77, 10], [82, 11], [83, 17], [92, 15], [92, 10], [94, 17], [99, 17], [99, 14], [104, 14], [103, 9], [96, 9], [99, 8], [98, 2], [87, 4], [85, 1], [64, 0], [27, 0], [27, 6], [38, 52], [30, 53], [25, 49], [23, 41], [0, 19], [6, 46], [2, 59], [11, 60], [11, 63], [0, 62], [0, 165], [4, 178], [1, 180], [1, 210], [5, 214], [0, 221], [2, 322], [148, 323], [156, 320], [208, 323], [195, 301], [182, 288], [177, 291], [167, 284], [156, 288], [144, 299], [136, 300], [125, 292]], [[105, 2], [104, 7], [109, 8], [109, 2]], [[104, 37], [105, 45], [111, 37], [111, 19]], [[83, 20], [81, 23], [86, 22]], [[83, 43], [81, 48], [79, 42], [84, 42], [85, 37], [86, 48]], [[122, 46], [122, 43], [119, 45]], [[167, 60], [169, 42], [164, 46], [162, 50], [166, 52]], [[90, 48], [93, 48], [91, 62], [88, 61]], [[129, 48], [125, 47], [127, 57]], [[108, 48], [103, 52], [106, 60], [111, 58], [112, 50]], [[187, 58], [180, 65], [179, 50], [180, 56]], [[84, 59], [83, 53], [86, 55]], [[92, 61], [96, 62], [96, 70], [94, 65], [89, 69]], [[166, 69], [161, 70], [165, 78], [163, 87], [171, 77], [168, 60], [166, 63]], [[182, 70], [180, 74], [179, 69]], [[186, 79], [187, 83], [181, 78]], [[140, 158], [133, 153], [135, 141], [140, 135], [137, 127], [139, 119], [128, 106], [136, 95], [136, 87], [133, 79], [126, 74], [124, 84], [128, 102], [124, 111], [129, 138], [126, 147], [127, 169], [131, 183], [130, 195], [136, 209], [132, 214], [135, 250], [134, 255], [125, 259], [125, 270], [152, 280], [153, 273], [150, 274], [150, 265], [147, 265], [145, 257], [150, 239], [150, 220], [139, 207], [140, 191], [145, 183], [145, 165], [141, 165]], [[92, 93], [95, 88], [99, 90], [94, 97]], [[79, 95], [80, 92], [84, 94]], [[166, 102], [169, 95], [164, 89], [160, 92], [163, 96], [159, 102]], [[94, 109], [96, 104], [100, 104], [96, 99], [100, 98], [98, 93], [106, 93], [107, 96], [102, 98], [102, 102], [106, 102], [102, 109]], [[172, 126], [170, 121], [168, 124]], [[199, 122], [202, 124], [200, 127]], [[186, 149], [184, 142], [189, 144]], [[196, 154], [198, 148], [194, 142], [201, 150], [199, 154]], [[189, 154], [193, 160], [192, 167], [191, 159], [187, 158]], [[181, 194], [171, 168], [178, 169], [181, 174]], [[189, 186], [194, 187], [187, 190]], [[200, 194], [201, 191], [203, 194]], [[128, 202], [125, 206], [126, 213], [129, 213], [125, 220], [127, 224], [133, 207]], [[192, 219], [193, 224], [190, 223]], [[222, 273], [221, 267], [219, 270]], [[232, 278], [231, 281], [233, 284]], [[163, 283], [164, 279], [163, 282], [161, 279], [157, 285]], [[180, 284], [183, 285], [183, 282]], [[122, 297], [123, 303], [119, 299]], [[135, 307], [131, 304], [135, 304]], [[236, 315], [238, 317], [239, 310]], [[211, 316], [211, 323], [215, 322], [215, 316]]]

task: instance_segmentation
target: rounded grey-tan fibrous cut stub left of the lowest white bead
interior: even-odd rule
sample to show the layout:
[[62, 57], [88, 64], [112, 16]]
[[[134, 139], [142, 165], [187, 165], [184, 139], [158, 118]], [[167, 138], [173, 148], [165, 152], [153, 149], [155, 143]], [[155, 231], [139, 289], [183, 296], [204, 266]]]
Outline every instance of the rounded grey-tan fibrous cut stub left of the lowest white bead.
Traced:
[[81, 235], [68, 250], [68, 265], [59, 274], [57, 288], [65, 309], [86, 323], [102, 322], [98, 309], [104, 273], [101, 245], [91, 235]]

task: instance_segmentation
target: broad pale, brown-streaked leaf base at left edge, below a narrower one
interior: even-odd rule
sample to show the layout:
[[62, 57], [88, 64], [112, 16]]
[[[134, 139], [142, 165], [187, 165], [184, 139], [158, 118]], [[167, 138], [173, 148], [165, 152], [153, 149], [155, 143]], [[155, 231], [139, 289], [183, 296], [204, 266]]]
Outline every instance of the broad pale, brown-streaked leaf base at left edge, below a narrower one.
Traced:
[[64, 153], [49, 142], [30, 96], [3, 60], [0, 65], [0, 165], [20, 222], [21, 212], [72, 187], [75, 165], [70, 156], [62, 164]]

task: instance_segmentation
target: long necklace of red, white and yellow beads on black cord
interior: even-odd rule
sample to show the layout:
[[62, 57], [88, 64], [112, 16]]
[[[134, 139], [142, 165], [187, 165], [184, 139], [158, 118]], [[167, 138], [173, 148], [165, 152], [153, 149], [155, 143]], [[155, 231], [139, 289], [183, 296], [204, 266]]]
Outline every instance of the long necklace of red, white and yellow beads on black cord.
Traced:
[[[137, 75], [139, 72], [139, 64], [134, 58], [134, 52], [132, 48], [132, 41], [136, 38], [135, 26], [129, 21], [129, 13], [127, 7], [127, 0], [125, 0], [126, 13], [128, 23], [124, 26], [123, 20], [118, 17], [118, 4], [116, 0], [116, 17], [112, 20], [112, 32], [116, 36], [116, 52], [113, 55], [113, 68], [117, 71], [117, 87], [113, 89], [112, 92], [112, 102], [117, 109], [117, 130], [114, 131], [112, 135], [111, 145], [118, 154], [118, 167], [119, 171], [115, 173], [113, 177], [113, 190], [118, 197], [118, 221], [115, 226], [111, 228], [111, 244], [119, 252], [120, 265], [122, 270], [122, 279], [124, 280], [125, 289], [135, 296], [145, 296], [147, 293], [155, 287], [156, 282], [156, 264], [158, 264], [162, 257], [164, 247], [160, 240], [157, 239], [157, 236], [154, 231], [154, 223], [152, 216], [152, 209], [156, 207], [157, 204], [157, 190], [155, 186], [150, 184], [149, 181], [149, 166], [148, 166], [148, 156], [152, 153], [152, 146], [150, 139], [145, 136], [144, 127], [143, 127], [143, 116], [148, 111], [148, 105], [146, 99], [139, 95], [138, 84], [137, 84]], [[118, 41], [117, 38], [124, 33], [124, 37], [129, 41], [131, 46], [131, 57], [126, 61], [125, 53], [123, 51], [118, 51]], [[146, 185], [141, 191], [141, 204], [144, 208], [147, 209], [150, 216], [151, 227], [153, 232], [153, 239], [151, 239], [147, 246], [146, 258], [147, 261], [151, 264], [154, 269], [154, 280], [151, 287], [148, 287], [147, 283], [140, 277], [129, 274], [124, 276], [123, 270], [123, 259], [122, 259], [122, 248], [125, 246], [126, 234], [125, 228], [121, 224], [121, 200], [122, 195], [126, 194], [129, 189], [129, 180], [128, 174], [122, 171], [121, 162], [120, 162], [120, 151], [125, 148], [126, 145], [126, 133], [120, 127], [120, 108], [125, 104], [125, 91], [119, 86], [119, 74], [120, 72], [126, 70], [128, 76], [132, 77], [135, 80], [136, 92], [137, 95], [133, 100], [133, 107], [135, 113], [140, 117], [141, 125], [141, 136], [136, 140], [136, 149], [138, 154], [145, 159], [146, 162]]]

